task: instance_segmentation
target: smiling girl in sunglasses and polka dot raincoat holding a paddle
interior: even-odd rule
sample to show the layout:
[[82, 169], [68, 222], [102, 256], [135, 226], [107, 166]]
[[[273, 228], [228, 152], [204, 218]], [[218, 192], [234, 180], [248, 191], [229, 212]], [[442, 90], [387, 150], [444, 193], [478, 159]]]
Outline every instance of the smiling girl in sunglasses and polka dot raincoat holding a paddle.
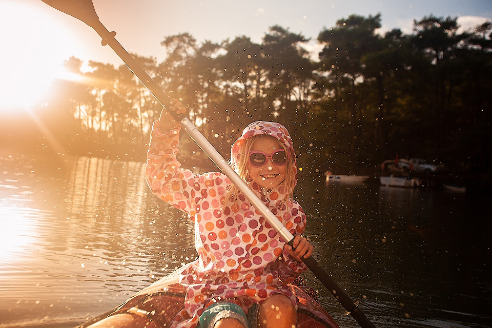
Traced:
[[[176, 99], [171, 110], [183, 113]], [[173, 327], [288, 327], [296, 298], [287, 284], [305, 270], [312, 245], [300, 234], [306, 217], [291, 199], [297, 181], [289, 132], [274, 122], [253, 122], [232, 146], [231, 165], [295, 236], [293, 250], [221, 173], [195, 175], [176, 159], [179, 127], [163, 111], [154, 122], [146, 178], [152, 192], [195, 224], [198, 259], [179, 282], [185, 308]]]

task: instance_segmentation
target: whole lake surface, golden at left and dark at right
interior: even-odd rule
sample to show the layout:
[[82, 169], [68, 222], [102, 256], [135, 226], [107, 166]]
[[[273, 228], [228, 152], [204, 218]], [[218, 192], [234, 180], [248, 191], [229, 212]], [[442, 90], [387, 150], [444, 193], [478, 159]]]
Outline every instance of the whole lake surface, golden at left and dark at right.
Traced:
[[[0, 156], [0, 327], [77, 325], [195, 258], [193, 226], [143, 171]], [[490, 195], [301, 180], [315, 258], [376, 327], [491, 325]], [[304, 277], [341, 327], [358, 327]]]

